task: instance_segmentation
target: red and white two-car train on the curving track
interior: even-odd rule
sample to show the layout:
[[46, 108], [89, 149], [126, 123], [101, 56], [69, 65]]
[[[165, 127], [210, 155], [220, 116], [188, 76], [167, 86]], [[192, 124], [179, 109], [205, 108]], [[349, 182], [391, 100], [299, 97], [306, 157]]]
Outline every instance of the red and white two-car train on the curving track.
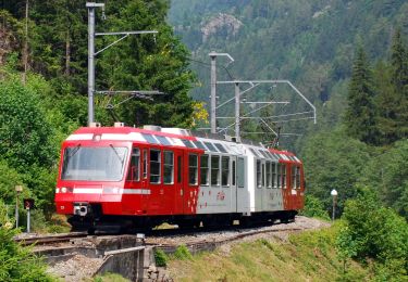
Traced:
[[84, 127], [62, 145], [55, 189], [73, 229], [294, 220], [304, 169], [292, 153], [146, 126]]

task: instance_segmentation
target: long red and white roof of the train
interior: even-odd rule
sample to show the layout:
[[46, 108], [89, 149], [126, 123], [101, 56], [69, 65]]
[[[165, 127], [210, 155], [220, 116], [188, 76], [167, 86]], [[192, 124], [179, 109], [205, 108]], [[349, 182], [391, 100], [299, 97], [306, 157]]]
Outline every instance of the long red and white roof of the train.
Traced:
[[[200, 137], [199, 137], [200, 136]], [[106, 141], [124, 141], [148, 143], [165, 146], [182, 146], [195, 150], [203, 150], [208, 153], [254, 155], [258, 158], [272, 159], [274, 162], [301, 163], [295, 154], [287, 151], [279, 151], [264, 148], [262, 144], [237, 143], [225, 140], [215, 134], [193, 134], [189, 130], [181, 128], [161, 128], [148, 126], [134, 128], [125, 126], [116, 127], [82, 127], [73, 132], [66, 141], [91, 141], [98, 137]]]

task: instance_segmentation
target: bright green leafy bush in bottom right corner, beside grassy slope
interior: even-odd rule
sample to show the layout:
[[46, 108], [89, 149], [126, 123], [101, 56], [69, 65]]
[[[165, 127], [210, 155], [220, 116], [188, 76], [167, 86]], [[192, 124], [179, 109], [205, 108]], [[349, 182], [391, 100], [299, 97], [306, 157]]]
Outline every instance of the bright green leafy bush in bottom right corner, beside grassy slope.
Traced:
[[372, 258], [380, 264], [379, 274], [392, 280], [408, 273], [407, 221], [381, 207], [372, 190], [360, 189], [356, 200], [346, 203], [343, 219], [345, 227], [338, 238], [341, 257]]

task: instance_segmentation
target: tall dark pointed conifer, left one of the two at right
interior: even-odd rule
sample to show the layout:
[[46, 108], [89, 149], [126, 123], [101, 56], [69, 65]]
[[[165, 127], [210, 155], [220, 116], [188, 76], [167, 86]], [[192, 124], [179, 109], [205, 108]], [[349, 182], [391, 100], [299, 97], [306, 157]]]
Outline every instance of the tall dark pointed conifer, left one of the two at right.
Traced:
[[353, 66], [344, 123], [350, 137], [368, 144], [378, 143], [374, 94], [371, 69], [360, 47]]

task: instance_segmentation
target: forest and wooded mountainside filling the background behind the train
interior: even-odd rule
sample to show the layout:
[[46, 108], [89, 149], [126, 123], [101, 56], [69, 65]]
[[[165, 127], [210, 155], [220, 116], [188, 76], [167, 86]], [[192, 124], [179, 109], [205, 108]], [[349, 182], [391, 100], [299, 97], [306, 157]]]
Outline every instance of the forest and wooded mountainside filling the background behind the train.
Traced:
[[[97, 12], [98, 31], [159, 33], [131, 36], [101, 52], [96, 60], [96, 89], [165, 94], [152, 100], [98, 94], [98, 121], [104, 126], [116, 120], [136, 127], [208, 126], [202, 106], [210, 92], [208, 53], [212, 50], [235, 59], [227, 67], [220, 62], [220, 79], [289, 79], [318, 108], [317, 125], [311, 120], [270, 124], [282, 128], [282, 133], [296, 133], [283, 134], [280, 149], [294, 151], [304, 162], [307, 201], [302, 213], [327, 218], [330, 191], [336, 189], [336, 218], [343, 225], [337, 238], [339, 257], [374, 261], [374, 274], [381, 281], [406, 278], [406, 1], [104, 3], [106, 18]], [[22, 196], [36, 201], [35, 228], [59, 231], [53, 193], [60, 144], [87, 124], [85, 1], [1, 1], [0, 18], [0, 221], [10, 221], [14, 187], [20, 184]], [[116, 39], [98, 38], [97, 50]], [[269, 101], [271, 91], [274, 99], [288, 100], [295, 112], [305, 111], [287, 89], [261, 88], [254, 98]], [[223, 102], [233, 90], [220, 88], [220, 93]], [[249, 110], [244, 107], [243, 114]], [[284, 111], [272, 106], [260, 115]], [[225, 107], [220, 114], [233, 112]], [[265, 131], [250, 120], [243, 128]], [[262, 142], [275, 138], [244, 137]], [[0, 238], [7, 241], [10, 234], [1, 229]]]

